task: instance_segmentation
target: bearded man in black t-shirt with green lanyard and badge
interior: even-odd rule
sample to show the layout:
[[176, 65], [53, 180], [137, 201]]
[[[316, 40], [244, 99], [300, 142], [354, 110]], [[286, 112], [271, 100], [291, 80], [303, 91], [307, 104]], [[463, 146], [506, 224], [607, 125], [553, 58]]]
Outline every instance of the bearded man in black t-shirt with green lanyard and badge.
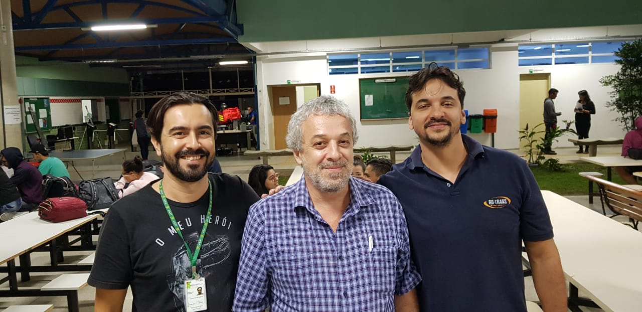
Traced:
[[[95, 311], [121, 311], [128, 286], [132, 311], [231, 311], [245, 219], [259, 198], [239, 177], [207, 173], [217, 116], [207, 98], [186, 93], [150, 111], [164, 177], [110, 208], [89, 276]], [[207, 306], [186, 308], [190, 282]]]

